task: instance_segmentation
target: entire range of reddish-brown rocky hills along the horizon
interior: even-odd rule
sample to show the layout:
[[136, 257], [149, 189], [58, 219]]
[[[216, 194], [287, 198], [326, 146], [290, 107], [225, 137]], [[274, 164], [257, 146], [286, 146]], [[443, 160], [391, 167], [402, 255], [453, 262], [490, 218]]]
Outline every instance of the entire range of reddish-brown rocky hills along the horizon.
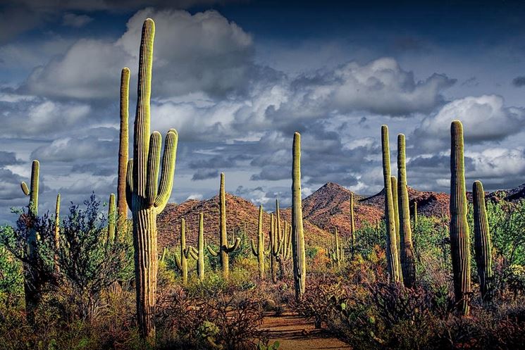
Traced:
[[[426, 216], [448, 215], [449, 195], [443, 192], [421, 192], [409, 187], [410, 211], [414, 201], [417, 202], [418, 214]], [[307, 244], [326, 244], [335, 227], [342, 236], [350, 235], [350, 192], [334, 182], [328, 182], [316, 192], [302, 200], [305, 240]], [[467, 198], [471, 200], [470, 192]], [[488, 200], [518, 201], [525, 198], [525, 184], [514, 189], [499, 190], [486, 193]], [[356, 227], [363, 223], [376, 223], [383, 218], [385, 206], [384, 189], [369, 197], [354, 194], [354, 213]], [[180, 237], [180, 218], [186, 220], [186, 240], [188, 244], [196, 244], [199, 213], [204, 213], [204, 235], [209, 242], [218, 244], [218, 196], [203, 201], [187, 200], [182, 204], [168, 204], [157, 218], [159, 228], [159, 244], [175, 246]], [[252, 202], [232, 194], [226, 194], [226, 221], [228, 235], [233, 231], [242, 230], [246, 224], [249, 237], [257, 235], [257, 220], [259, 208]], [[290, 222], [290, 208], [281, 211], [281, 218]], [[268, 242], [270, 230], [270, 214], [264, 212], [264, 234]], [[230, 238], [229, 242], [233, 242]]]

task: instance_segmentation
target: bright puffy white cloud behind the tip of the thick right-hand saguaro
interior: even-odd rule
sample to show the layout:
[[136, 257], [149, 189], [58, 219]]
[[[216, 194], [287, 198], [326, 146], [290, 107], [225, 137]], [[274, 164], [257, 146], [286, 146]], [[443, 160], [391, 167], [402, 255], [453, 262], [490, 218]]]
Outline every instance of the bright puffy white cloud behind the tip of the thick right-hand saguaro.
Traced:
[[435, 149], [450, 139], [450, 123], [459, 119], [463, 123], [464, 137], [469, 142], [502, 140], [522, 130], [525, 109], [505, 107], [501, 96], [468, 96], [456, 99], [428, 115], [421, 121], [414, 134], [419, 144]]

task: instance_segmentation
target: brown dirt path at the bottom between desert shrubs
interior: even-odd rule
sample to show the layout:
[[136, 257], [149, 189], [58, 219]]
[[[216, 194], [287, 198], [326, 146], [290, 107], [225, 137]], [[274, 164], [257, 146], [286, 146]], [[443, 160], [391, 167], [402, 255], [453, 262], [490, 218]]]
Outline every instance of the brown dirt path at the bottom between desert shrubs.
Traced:
[[290, 312], [280, 316], [266, 316], [261, 329], [270, 332], [270, 344], [279, 341], [279, 350], [352, 349], [326, 330], [314, 329], [312, 321]]

